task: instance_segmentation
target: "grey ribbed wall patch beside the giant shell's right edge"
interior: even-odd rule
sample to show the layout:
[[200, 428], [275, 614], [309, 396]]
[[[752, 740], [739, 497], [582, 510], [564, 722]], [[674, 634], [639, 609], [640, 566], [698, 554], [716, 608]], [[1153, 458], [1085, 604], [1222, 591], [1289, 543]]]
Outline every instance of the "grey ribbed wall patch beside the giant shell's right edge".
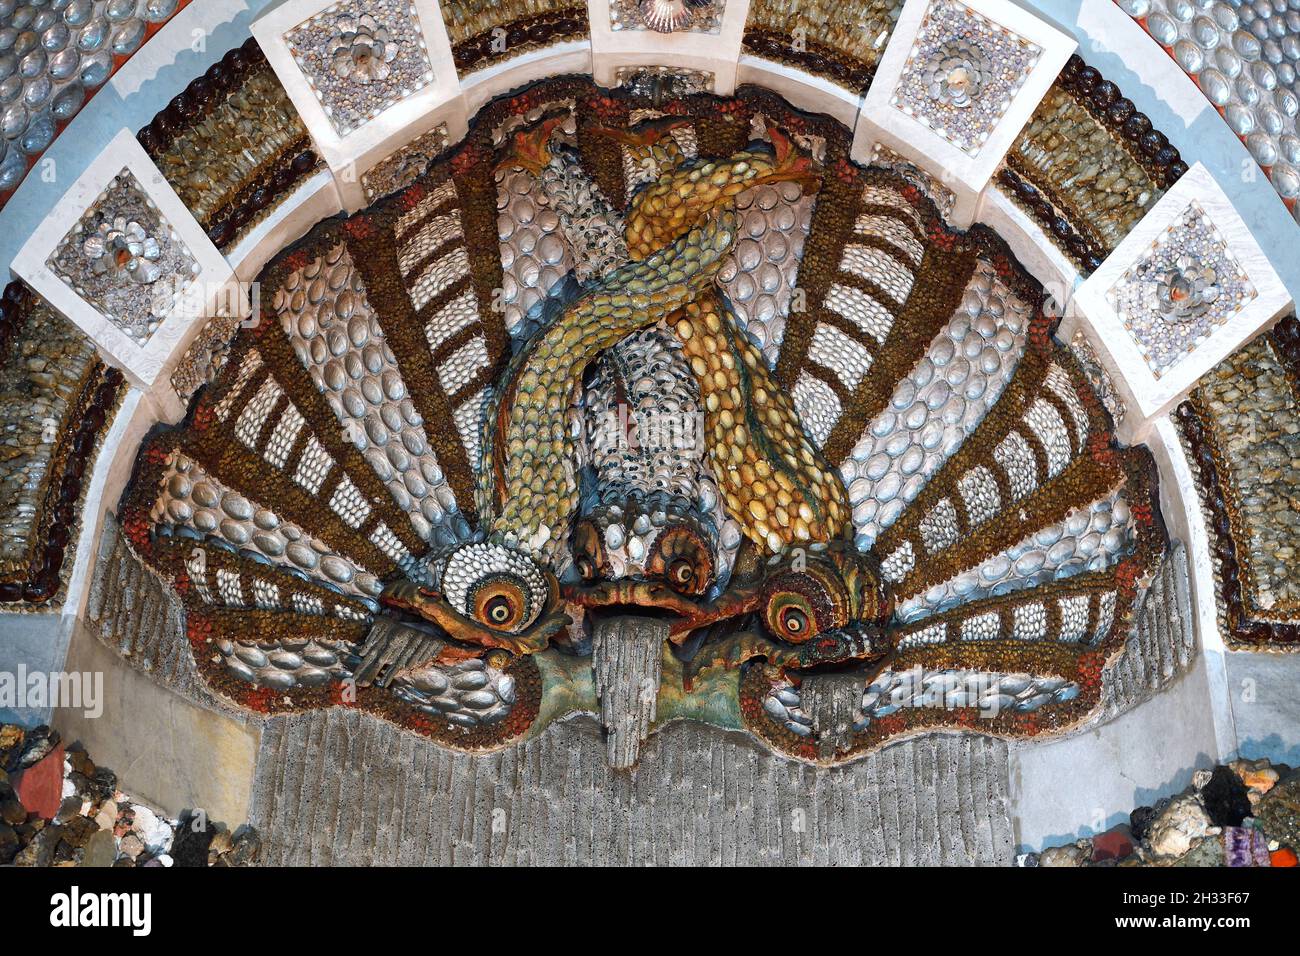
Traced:
[[1148, 700], [1180, 676], [1195, 656], [1187, 549], [1179, 544], [1165, 554], [1143, 596], [1123, 653], [1106, 667], [1098, 719]]

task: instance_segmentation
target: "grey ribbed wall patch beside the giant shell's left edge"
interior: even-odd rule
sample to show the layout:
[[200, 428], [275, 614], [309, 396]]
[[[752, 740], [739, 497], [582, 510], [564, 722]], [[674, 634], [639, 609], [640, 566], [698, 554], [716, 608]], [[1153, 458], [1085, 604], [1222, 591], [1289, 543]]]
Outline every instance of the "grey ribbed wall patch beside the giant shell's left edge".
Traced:
[[91, 633], [136, 670], [186, 696], [209, 698], [185, 636], [181, 601], [130, 549], [112, 514], [104, 515], [86, 619]]

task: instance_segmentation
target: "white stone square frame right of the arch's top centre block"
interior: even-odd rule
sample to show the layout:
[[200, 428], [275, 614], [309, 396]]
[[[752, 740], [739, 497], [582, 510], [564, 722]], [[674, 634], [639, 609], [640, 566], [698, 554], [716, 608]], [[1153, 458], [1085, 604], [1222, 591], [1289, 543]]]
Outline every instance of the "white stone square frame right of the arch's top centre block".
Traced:
[[907, 56], [931, 4], [935, 3], [935, 0], [907, 0], [893, 35], [885, 44], [875, 79], [862, 101], [853, 131], [852, 155], [859, 163], [867, 164], [879, 144], [915, 163], [953, 191], [957, 202], [953, 207], [952, 224], [965, 229], [979, 217], [979, 204], [985, 187], [1079, 44], [1070, 34], [1010, 0], [954, 1], [1023, 36], [1041, 49], [1037, 61], [1011, 98], [1006, 112], [993, 126], [988, 139], [972, 156], [893, 105], [892, 100], [907, 65]]

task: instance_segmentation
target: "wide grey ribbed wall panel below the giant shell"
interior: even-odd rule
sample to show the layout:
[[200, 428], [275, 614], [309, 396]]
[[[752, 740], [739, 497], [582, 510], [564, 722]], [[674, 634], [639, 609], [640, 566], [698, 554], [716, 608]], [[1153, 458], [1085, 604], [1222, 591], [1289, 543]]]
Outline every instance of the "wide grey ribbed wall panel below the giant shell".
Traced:
[[696, 722], [612, 771], [577, 717], [490, 754], [342, 708], [263, 732], [251, 822], [287, 865], [983, 864], [1013, 857], [1008, 747], [931, 735], [841, 767]]

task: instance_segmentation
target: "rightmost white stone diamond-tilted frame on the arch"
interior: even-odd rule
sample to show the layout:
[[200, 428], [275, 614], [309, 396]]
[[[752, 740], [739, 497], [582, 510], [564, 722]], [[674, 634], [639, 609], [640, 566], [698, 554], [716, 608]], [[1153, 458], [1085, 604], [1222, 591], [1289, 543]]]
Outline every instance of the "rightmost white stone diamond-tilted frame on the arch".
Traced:
[[[1232, 256], [1254, 285], [1256, 295], [1231, 320], [1213, 329], [1190, 354], [1156, 376], [1143, 356], [1132, 333], [1124, 328], [1118, 310], [1106, 293], [1150, 250], [1152, 243], [1196, 202], [1214, 224]], [[1169, 412], [1196, 386], [1201, 376], [1252, 338], [1265, 332], [1291, 308], [1291, 294], [1260, 248], [1251, 228], [1232, 207], [1214, 177], [1197, 163], [1160, 198], [1132, 228], [1115, 251], [1075, 291], [1072, 308], [1062, 323], [1062, 337], [1075, 328], [1084, 329], [1097, 358], [1110, 372], [1121, 398], [1128, 406], [1118, 433], [1136, 444], [1150, 431], [1150, 423]]]

